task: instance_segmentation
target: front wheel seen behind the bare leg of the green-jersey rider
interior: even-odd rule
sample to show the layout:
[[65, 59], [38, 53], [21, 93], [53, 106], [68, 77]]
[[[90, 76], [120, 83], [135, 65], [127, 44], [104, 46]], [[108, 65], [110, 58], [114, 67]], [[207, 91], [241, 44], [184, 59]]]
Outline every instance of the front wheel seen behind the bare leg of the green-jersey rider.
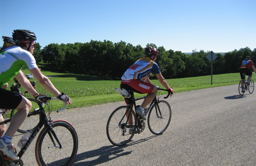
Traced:
[[[32, 108], [30, 110], [30, 112], [34, 111], [36, 108], [39, 108], [38, 106], [38, 102], [36, 99], [33, 98], [28, 98], [28, 100], [32, 103]], [[17, 109], [12, 109], [11, 115], [10, 117], [12, 118], [16, 112], [18, 110]], [[36, 128], [36, 125], [39, 123], [40, 121], [40, 115], [34, 115], [34, 116], [30, 116], [30, 117], [26, 117], [26, 119], [24, 120], [24, 122], [21, 124], [21, 126], [19, 127], [19, 129], [17, 130], [20, 133], [25, 133], [27, 130], [31, 130], [34, 131]]]

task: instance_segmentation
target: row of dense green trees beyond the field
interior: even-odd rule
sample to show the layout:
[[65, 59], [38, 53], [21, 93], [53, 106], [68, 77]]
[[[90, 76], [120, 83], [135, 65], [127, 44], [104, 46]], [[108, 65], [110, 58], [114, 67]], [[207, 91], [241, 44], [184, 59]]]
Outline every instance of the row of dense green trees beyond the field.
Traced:
[[[188, 55], [172, 49], [165, 50], [164, 47], [157, 47], [152, 43], [148, 46], [157, 48], [160, 56], [157, 57], [156, 63], [166, 79], [211, 74], [211, 63], [206, 58], [209, 51], [193, 50], [192, 55]], [[232, 73], [238, 72], [246, 56], [256, 60], [256, 49], [246, 47], [217, 55], [213, 61], [213, 74]], [[144, 48], [126, 44], [124, 41], [113, 43], [106, 40], [74, 44], [53, 43], [43, 49], [36, 43], [34, 56], [37, 63], [48, 66], [47, 70], [120, 79], [131, 64], [144, 56]]]

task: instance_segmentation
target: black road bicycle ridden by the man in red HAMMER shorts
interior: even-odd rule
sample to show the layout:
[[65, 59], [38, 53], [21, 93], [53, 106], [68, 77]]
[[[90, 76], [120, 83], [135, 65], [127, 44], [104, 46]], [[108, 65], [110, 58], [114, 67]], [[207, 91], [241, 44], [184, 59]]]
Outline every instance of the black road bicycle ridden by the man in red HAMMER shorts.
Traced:
[[[158, 88], [157, 97], [150, 103], [145, 112], [148, 114], [148, 128], [153, 134], [162, 134], [168, 127], [171, 121], [171, 106], [164, 100], [159, 100], [163, 91], [166, 89]], [[127, 90], [127, 89], [126, 89]], [[132, 103], [128, 106], [121, 106], [115, 109], [107, 123], [108, 140], [115, 146], [123, 146], [127, 144], [136, 133], [141, 133], [145, 129], [145, 122], [141, 117], [135, 113], [139, 105], [136, 106], [136, 101], [144, 99], [140, 97], [135, 99], [133, 91], [127, 90], [132, 97]], [[164, 99], [168, 98], [170, 93]], [[134, 110], [132, 109], [134, 107]]]

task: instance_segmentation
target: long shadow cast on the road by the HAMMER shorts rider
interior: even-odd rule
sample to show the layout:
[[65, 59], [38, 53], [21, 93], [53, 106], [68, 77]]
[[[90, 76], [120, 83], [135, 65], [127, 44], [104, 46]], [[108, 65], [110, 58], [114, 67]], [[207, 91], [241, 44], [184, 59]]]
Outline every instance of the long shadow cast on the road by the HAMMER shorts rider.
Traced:
[[[101, 164], [104, 162], [108, 162], [108, 161], [113, 160], [120, 156], [129, 155], [132, 153], [132, 151], [124, 152], [124, 148], [132, 146], [132, 145], [136, 145], [138, 143], [147, 141], [147, 140], [155, 138], [157, 136], [158, 135], [154, 135], [154, 136], [151, 136], [151, 137], [148, 137], [145, 139], [140, 139], [138, 141], [131, 140], [128, 144], [121, 146], [121, 147], [116, 147], [114, 145], [110, 145], [110, 146], [101, 147], [99, 149], [91, 150], [88, 152], [80, 153], [80, 154], [76, 155], [75, 161], [72, 165], [94, 166], [94, 165], [98, 165], [98, 164]], [[97, 156], [99, 156], [99, 157], [97, 157]], [[95, 158], [95, 157], [97, 157], [97, 158]], [[88, 158], [95, 158], [95, 159], [92, 159], [91, 161], [79, 162], [81, 160], [88, 159]], [[122, 164], [122, 163], [120, 163], [120, 164]]]

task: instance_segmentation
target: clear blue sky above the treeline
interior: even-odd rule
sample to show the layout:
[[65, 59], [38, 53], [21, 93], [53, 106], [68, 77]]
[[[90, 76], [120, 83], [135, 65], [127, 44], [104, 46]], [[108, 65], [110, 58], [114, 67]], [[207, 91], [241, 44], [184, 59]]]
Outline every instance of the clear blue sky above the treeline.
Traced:
[[0, 35], [28, 29], [42, 48], [108, 40], [182, 52], [253, 50], [255, 6], [255, 0], [0, 0]]

